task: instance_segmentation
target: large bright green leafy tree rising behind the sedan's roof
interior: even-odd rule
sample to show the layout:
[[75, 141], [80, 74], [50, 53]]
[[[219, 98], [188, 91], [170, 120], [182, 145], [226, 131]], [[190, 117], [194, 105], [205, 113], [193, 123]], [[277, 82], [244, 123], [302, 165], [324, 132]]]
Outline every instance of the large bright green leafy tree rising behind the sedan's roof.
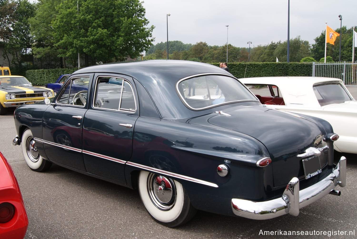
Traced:
[[77, 53], [95, 61], [136, 58], [152, 45], [145, 9], [139, 0], [64, 0], [52, 21], [59, 56], [76, 61]]

